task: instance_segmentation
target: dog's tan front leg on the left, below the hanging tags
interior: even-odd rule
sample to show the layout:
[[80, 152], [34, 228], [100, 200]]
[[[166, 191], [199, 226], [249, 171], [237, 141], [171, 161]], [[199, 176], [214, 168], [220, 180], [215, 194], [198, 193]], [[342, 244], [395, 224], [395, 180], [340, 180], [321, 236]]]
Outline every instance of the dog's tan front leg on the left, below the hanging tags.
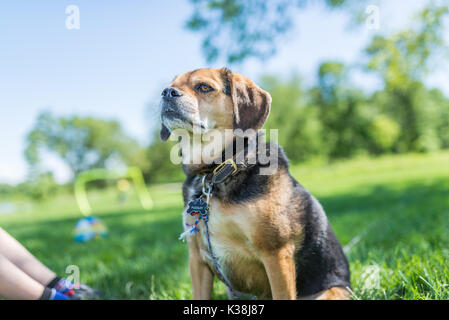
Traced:
[[214, 275], [209, 266], [201, 259], [200, 248], [197, 239], [190, 238], [189, 245], [189, 268], [192, 278], [193, 299], [209, 300], [212, 296]]

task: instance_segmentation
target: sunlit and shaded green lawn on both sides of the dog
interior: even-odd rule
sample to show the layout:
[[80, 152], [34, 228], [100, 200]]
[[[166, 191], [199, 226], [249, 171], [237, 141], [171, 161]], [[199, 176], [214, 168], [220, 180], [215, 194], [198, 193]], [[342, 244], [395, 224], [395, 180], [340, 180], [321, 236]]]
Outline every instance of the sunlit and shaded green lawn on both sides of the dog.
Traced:
[[[449, 299], [449, 153], [355, 159], [292, 168], [323, 204], [345, 246], [355, 299]], [[180, 185], [150, 188], [155, 206], [135, 196], [119, 204], [113, 190], [93, 192], [107, 239], [74, 243], [81, 217], [73, 196], [0, 214], [0, 226], [64, 275], [77, 265], [81, 281], [108, 299], [189, 299]], [[226, 298], [216, 282], [214, 298]]]

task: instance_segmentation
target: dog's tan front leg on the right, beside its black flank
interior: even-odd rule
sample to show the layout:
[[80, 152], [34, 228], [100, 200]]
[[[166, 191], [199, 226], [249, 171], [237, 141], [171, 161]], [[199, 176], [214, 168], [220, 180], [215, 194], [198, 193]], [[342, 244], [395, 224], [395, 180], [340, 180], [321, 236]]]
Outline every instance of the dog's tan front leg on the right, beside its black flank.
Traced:
[[286, 245], [278, 250], [265, 253], [262, 262], [275, 300], [296, 299], [296, 272], [294, 246]]

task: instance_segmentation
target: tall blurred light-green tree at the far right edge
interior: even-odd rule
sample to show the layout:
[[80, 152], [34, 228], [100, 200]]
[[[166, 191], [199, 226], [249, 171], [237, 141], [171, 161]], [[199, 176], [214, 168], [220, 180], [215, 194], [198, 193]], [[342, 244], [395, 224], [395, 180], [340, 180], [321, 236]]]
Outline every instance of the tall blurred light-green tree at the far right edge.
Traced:
[[395, 149], [399, 152], [428, 151], [440, 146], [438, 114], [441, 105], [422, 80], [436, 57], [447, 55], [444, 17], [447, 6], [430, 5], [417, 16], [414, 27], [389, 37], [375, 36], [367, 47], [367, 69], [384, 81], [386, 97], [382, 112], [396, 121], [401, 132]]

